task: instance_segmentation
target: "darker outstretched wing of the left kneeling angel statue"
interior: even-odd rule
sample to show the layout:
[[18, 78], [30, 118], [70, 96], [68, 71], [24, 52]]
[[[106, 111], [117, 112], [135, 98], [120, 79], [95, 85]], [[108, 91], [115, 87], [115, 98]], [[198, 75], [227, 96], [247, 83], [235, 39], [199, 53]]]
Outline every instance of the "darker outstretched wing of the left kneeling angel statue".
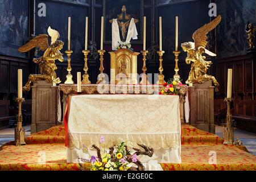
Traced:
[[30, 51], [32, 48], [39, 48], [42, 51], [46, 51], [49, 47], [48, 44], [48, 35], [47, 34], [40, 34], [36, 36], [34, 39], [30, 40], [30, 42], [26, 43], [24, 46], [19, 47], [19, 52], [27, 52]]

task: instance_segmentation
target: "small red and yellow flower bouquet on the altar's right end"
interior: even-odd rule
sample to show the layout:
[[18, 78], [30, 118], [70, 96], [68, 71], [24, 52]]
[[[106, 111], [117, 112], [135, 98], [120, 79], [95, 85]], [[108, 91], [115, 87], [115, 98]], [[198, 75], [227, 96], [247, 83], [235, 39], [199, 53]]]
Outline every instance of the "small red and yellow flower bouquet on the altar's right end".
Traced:
[[163, 86], [164, 87], [159, 92], [160, 95], [178, 95], [183, 84], [181, 81], [170, 79]]

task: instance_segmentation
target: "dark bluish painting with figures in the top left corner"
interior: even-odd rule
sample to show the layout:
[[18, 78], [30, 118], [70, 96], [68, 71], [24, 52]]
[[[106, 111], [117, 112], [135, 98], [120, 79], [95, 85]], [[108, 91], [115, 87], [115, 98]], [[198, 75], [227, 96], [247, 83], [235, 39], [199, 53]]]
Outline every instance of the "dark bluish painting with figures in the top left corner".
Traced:
[[28, 38], [28, 0], [0, 0], [0, 54], [26, 57], [18, 48]]

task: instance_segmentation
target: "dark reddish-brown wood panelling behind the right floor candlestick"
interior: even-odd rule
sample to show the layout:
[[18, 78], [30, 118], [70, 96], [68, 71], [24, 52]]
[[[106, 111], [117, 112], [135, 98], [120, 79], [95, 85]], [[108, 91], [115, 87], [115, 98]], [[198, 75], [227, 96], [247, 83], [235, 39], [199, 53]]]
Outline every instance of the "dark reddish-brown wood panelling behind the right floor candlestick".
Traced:
[[228, 69], [233, 69], [232, 97], [234, 98], [234, 119], [237, 127], [256, 131], [256, 55], [248, 53], [241, 56], [217, 60], [216, 75], [220, 92], [216, 93], [215, 111], [226, 108]]

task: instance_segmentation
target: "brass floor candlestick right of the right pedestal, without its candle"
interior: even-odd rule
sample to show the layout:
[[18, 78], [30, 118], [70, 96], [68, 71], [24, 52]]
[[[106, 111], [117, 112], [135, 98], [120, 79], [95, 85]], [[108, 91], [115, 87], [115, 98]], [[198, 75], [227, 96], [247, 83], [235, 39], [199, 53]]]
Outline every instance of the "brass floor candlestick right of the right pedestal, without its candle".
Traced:
[[224, 135], [224, 143], [223, 144], [233, 144], [234, 143], [234, 129], [233, 129], [233, 121], [232, 114], [230, 112], [230, 102], [232, 98], [225, 98], [226, 104], [228, 106], [227, 114], [226, 114], [226, 127], [224, 127], [223, 135]]

